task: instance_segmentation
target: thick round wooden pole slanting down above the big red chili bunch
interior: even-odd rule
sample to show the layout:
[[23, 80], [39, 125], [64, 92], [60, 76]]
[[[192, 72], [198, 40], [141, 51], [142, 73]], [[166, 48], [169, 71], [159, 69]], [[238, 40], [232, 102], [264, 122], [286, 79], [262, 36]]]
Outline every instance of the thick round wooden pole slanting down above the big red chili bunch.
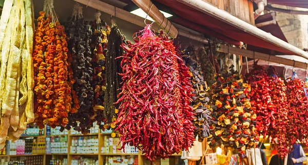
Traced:
[[160, 25], [160, 27], [166, 27], [166, 32], [172, 38], [176, 38], [178, 35], [178, 30], [172, 25], [172, 23], [164, 16], [163, 13], [151, 2], [151, 0], [132, 0], [139, 8], [141, 8], [145, 13], [148, 13], [155, 22]]

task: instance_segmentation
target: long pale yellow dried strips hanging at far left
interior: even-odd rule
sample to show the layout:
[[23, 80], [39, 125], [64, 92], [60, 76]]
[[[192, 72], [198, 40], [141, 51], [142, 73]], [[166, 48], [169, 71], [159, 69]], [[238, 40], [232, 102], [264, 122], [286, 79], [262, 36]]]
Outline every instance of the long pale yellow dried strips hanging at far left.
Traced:
[[5, 1], [0, 19], [0, 149], [18, 139], [33, 112], [33, 17], [30, 0]]

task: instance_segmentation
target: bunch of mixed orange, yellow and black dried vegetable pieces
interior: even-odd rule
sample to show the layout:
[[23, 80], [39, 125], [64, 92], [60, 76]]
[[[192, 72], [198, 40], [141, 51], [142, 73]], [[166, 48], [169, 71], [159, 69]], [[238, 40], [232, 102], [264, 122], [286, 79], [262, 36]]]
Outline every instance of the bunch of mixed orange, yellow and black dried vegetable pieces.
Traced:
[[213, 121], [210, 123], [211, 135], [207, 140], [211, 148], [222, 146], [228, 150], [239, 149], [244, 153], [256, 141], [257, 116], [249, 102], [250, 85], [244, 83], [242, 76], [232, 68], [229, 73], [216, 76], [217, 81], [212, 86]]

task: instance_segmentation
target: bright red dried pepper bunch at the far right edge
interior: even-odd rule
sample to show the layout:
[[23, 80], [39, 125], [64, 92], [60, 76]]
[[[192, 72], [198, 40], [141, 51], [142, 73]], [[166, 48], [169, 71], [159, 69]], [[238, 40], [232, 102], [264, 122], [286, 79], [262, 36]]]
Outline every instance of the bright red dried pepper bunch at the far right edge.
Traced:
[[306, 144], [305, 138], [308, 134], [308, 99], [304, 81], [299, 79], [295, 72], [293, 77], [288, 79], [286, 85], [286, 99], [288, 101], [288, 124], [286, 132], [286, 142], [291, 147], [299, 140]]

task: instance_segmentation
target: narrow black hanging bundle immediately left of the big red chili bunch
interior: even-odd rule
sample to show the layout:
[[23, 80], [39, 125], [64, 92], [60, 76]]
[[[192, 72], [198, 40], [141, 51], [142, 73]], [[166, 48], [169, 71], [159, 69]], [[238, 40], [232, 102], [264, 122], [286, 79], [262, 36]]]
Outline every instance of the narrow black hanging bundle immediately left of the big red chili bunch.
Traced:
[[[123, 43], [123, 37], [117, 26], [111, 28], [110, 34], [108, 36], [108, 52], [106, 54], [106, 91], [105, 91], [105, 110], [104, 115], [107, 118], [107, 123], [111, 123], [116, 119], [116, 114], [118, 112], [117, 102], [118, 94], [120, 93], [118, 89], [121, 88], [121, 76], [117, 73], [122, 73], [122, 68], [120, 66], [121, 59], [115, 59], [122, 56], [123, 49], [121, 47]], [[115, 110], [117, 109], [117, 110]]]

